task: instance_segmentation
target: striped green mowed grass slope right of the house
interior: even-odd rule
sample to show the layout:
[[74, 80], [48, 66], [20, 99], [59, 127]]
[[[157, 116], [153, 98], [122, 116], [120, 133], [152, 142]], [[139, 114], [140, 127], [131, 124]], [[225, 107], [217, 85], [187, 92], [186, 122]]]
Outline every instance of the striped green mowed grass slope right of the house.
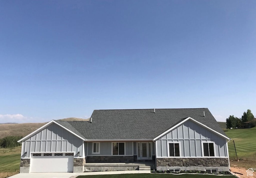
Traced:
[[[229, 129], [225, 132], [232, 140], [228, 142], [229, 159], [232, 165], [238, 165], [246, 168], [256, 168], [256, 127], [249, 129]], [[236, 160], [236, 152], [234, 143], [236, 145], [238, 161]]]

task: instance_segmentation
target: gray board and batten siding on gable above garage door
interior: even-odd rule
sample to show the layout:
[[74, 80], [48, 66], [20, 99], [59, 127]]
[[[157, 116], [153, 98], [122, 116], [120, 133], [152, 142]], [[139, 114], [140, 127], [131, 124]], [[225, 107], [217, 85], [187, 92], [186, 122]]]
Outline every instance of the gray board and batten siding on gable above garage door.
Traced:
[[[52, 123], [40, 132], [23, 141], [23, 157], [30, 158], [31, 152], [80, 152], [83, 154], [83, 140], [73, 135], [71, 132]], [[27, 152], [27, 156], [24, 153]]]

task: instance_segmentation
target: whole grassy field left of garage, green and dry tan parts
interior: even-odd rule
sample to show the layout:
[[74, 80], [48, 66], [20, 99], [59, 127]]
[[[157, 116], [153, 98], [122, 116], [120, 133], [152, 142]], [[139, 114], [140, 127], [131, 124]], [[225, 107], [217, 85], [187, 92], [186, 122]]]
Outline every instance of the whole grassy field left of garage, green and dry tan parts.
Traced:
[[0, 178], [19, 173], [21, 147], [0, 148]]

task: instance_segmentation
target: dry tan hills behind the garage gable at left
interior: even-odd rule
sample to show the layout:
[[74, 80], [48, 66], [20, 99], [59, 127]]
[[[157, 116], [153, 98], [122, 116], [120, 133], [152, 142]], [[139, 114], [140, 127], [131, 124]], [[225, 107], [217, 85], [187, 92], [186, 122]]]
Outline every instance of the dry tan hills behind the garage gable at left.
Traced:
[[[65, 118], [59, 119], [60, 121], [89, 121], [89, 119], [81, 118]], [[0, 124], [0, 139], [6, 136], [26, 136], [31, 132], [34, 132], [39, 127], [45, 125], [45, 123], [4, 123]]]

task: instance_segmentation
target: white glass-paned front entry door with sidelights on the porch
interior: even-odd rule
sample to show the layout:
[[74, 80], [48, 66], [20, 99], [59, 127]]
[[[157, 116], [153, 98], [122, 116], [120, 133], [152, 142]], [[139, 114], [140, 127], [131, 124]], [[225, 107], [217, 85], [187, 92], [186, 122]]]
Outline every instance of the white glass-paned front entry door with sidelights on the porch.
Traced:
[[137, 160], [152, 159], [152, 142], [137, 142]]

